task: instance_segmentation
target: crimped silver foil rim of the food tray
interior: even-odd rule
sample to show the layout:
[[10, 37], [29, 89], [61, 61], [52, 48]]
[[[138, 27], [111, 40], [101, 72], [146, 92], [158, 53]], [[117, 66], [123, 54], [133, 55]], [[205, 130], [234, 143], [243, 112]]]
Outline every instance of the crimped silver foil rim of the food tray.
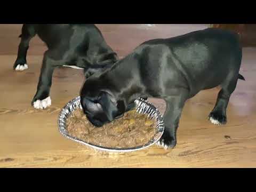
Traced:
[[91, 147], [95, 150], [100, 150], [100, 151], [107, 151], [107, 152], [118, 152], [118, 153], [126, 153], [126, 152], [132, 152], [132, 151], [138, 151], [142, 149], [146, 149], [150, 146], [153, 146], [163, 135], [164, 133], [164, 122], [163, 122], [163, 117], [161, 113], [157, 110], [153, 104], [149, 103], [148, 101], [144, 99], [137, 99], [134, 101], [136, 106], [137, 106], [137, 112], [140, 114], [148, 114], [149, 118], [154, 118], [156, 120], [156, 134], [153, 139], [151, 139], [146, 145], [144, 146], [138, 146], [138, 147], [133, 147], [133, 148], [107, 148], [107, 147], [100, 147], [100, 146], [95, 146], [92, 145], [91, 143], [87, 143], [85, 141], [82, 141], [78, 138], [72, 137], [71, 135], [68, 134], [66, 130], [66, 120], [67, 118], [73, 113], [77, 108], [81, 108], [81, 103], [80, 103], [80, 97], [77, 97], [70, 102], [67, 103], [65, 107], [60, 112], [59, 118], [58, 118], [58, 127], [60, 133], [75, 142], [81, 143], [82, 145]]

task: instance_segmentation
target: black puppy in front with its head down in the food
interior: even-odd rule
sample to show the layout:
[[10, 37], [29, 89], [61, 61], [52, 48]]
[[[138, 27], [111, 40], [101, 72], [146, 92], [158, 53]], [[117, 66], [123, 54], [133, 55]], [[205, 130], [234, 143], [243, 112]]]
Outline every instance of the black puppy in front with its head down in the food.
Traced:
[[96, 126], [113, 121], [139, 97], [166, 101], [165, 131], [158, 144], [177, 144], [176, 133], [185, 102], [199, 91], [221, 86], [209, 115], [214, 124], [227, 122], [226, 109], [242, 61], [239, 37], [229, 31], [205, 29], [186, 35], [154, 39], [118, 61], [101, 75], [91, 76], [81, 91], [84, 113]]

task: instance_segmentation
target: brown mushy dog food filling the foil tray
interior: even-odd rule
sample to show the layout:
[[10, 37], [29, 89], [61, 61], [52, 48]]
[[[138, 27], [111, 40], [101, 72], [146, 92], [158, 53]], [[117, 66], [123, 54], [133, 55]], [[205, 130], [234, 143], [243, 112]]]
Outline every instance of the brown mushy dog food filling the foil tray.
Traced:
[[129, 111], [120, 119], [93, 126], [83, 114], [76, 110], [67, 119], [67, 131], [79, 140], [108, 148], [132, 148], [146, 145], [156, 133], [156, 122], [136, 111]]

